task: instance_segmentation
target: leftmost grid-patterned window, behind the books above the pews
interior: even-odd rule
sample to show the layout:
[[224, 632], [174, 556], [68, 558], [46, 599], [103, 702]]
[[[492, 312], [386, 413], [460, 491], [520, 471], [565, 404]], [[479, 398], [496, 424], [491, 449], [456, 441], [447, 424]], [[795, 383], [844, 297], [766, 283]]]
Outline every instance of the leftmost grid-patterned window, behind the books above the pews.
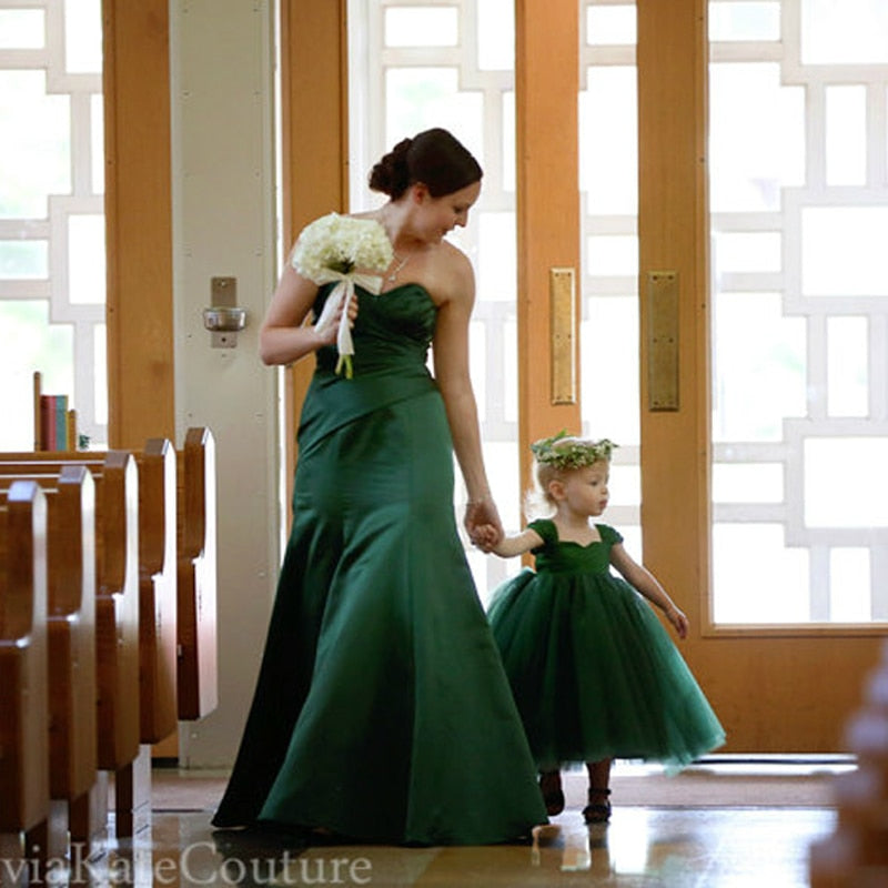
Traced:
[[33, 373], [107, 441], [100, 0], [0, 0], [0, 448], [34, 443]]

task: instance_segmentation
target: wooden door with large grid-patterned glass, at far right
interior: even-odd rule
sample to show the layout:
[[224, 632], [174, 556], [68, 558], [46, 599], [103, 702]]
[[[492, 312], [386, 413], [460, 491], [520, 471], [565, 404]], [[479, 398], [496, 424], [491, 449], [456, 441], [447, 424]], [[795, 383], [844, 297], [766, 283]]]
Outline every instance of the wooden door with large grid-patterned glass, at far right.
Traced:
[[[828, 753], [885, 635], [885, 12], [638, 4], [642, 519], [729, 751]], [[852, 49], [851, 49], [852, 48]], [[652, 405], [652, 275], [678, 403]]]

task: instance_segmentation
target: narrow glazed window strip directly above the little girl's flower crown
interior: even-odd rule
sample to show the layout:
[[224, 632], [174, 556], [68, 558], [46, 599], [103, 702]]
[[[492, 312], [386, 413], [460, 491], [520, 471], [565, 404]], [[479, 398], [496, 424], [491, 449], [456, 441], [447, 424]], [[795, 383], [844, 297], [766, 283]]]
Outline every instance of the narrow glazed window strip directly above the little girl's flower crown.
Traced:
[[[634, 0], [585, 0], [579, 43], [581, 410], [584, 434], [619, 444], [605, 517], [640, 557], [635, 52]], [[616, 382], [602, 385], [602, 379]]]

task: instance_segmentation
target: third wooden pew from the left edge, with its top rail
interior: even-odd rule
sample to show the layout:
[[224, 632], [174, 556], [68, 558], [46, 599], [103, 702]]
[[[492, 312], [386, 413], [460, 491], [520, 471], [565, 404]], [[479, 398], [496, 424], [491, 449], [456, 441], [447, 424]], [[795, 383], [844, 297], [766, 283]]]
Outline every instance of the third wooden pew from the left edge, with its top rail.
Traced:
[[[46, 482], [68, 465], [82, 465], [52, 456], [2, 454], [0, 476]], [[134, 769], [140, 739], [138, 470], [131, 454], [114, 451], [100, 465], [87, 465], [95, 482], [97, 759], [114, 776], [115, 833], [123, 837], [133, 833], [134, 810], [148, 804]]]

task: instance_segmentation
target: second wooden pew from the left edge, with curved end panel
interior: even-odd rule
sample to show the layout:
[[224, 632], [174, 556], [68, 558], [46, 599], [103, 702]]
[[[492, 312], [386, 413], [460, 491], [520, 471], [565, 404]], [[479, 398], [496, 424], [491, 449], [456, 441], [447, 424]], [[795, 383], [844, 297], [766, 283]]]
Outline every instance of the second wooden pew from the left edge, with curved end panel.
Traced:
[[[0, 476], [0, 488], [13, 480]], [[63, 805], [71, 841], [85, 845], [108, 814], [95, 786], [95, 486], [74, 465], [33, 481], [47, 500], [50, 798]]]

